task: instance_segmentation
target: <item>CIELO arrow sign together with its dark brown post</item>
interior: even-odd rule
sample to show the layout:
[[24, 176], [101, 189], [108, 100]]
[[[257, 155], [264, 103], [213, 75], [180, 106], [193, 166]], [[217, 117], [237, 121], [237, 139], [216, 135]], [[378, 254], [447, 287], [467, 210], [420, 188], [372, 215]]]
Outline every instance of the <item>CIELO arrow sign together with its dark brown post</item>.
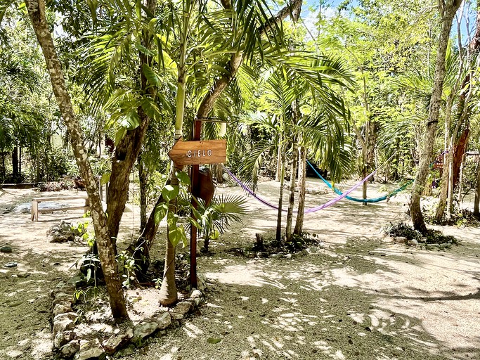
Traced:
[[[193, 141], [179, 139], [168, 155], [179, 167], [192, 165], [190, 170], [191, 193], [195, 194], [200, 188], [198, 165], [225, 162], [226, 140], [200, 141], [202, 122], [195, 120], [193, 127]], [[196, 206], [196, 203], [193, 202], [193, 206]], [[197, 228], [193, 225], [190, 226], [190, 286], [197, 288]]]

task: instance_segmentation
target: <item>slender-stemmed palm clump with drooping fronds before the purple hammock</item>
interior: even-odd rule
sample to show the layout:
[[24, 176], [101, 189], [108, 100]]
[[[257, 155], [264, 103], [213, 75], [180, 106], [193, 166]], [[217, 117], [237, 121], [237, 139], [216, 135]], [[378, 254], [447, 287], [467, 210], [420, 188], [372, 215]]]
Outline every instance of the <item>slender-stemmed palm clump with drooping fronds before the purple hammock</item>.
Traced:
[[[268, 77], [266, 89], [274, 104], [275, 118], [280, 124], [278, 132], [283, 141], [278, 144], [282, 147], [291, 144], [292, 173], [290, 175], [290, 200], [287, 211], [287, 240], [292, 236], [292, 219], [294, 207], [294, 184], [296, 179], [296, 164], [299, 158], [297, 146], [300, 147], [301, 181], [299, 212], [304, 209], [304, 181], [302, 176], [306, 167], [306, 147], [315, 150], [313, 155], [321, 160], [323, 165], [330, 165], [332, 175], [339, 179], [343, 169], [349, 167], [344, 150], [345, 122], [340, 119], [348, 114], [342, 98], [335, 91], [335, 86], [351, 83], [349, 72], [344, 69], [341, 61], [327, 56], [316, 56], [313, 53], [296, 55], [294, 51], [283, 59], [275, 58], [271, 61], [275, 65], [272, 75]], [[303, 114], [301, 108], [309, 107], [309, 115]], [[263, 124], [263, 122], [260, 122]], [[272, 146], [268, 141], [259, 144], [250, 151], [241, 167], [242, 176], [252, 188], [256, 187], [257, 169], [261, 163], [261, 156]], [[284, 153], [285, 151], [279, 151]], [[342, 154], [342, 161], [338, 155]], [[286, 158], [283, 159], [280, 172], [284, 172]], [[280, 199], [277, 217], [277, 240], [280, 240], [282, 219], [283, 176], [280, 176]], [[295, 228], [301, 233], [303, 216], [297, 217]]]

